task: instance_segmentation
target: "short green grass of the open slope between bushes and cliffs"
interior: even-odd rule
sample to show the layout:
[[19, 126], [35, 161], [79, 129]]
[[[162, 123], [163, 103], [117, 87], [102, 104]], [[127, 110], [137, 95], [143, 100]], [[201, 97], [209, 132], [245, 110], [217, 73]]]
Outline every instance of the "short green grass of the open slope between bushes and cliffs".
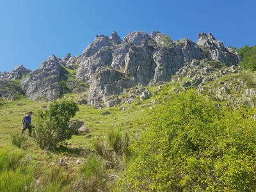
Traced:
[[[188, 79], [182, 78], [182, 81], [184, 80]], [[250, 86], [255, 86], [255, 72], [248, 71], [239, 72], [238, 74], [227, 74], [226, 76], [222, 76], [210, 82], [210, 87], [205, 86], [205, 92], [210, 88], [213, 89], [219, 87], [221, 82], [241, 84], [241, 81], [248, 80], [251, 82]], [[24, 97], [19, 100], [0, 99], [0, 148], [4, 147], [11, 151], [19, 150], [19, 152], [22, 152], [23, 156], [21, 162], [25, 163], [28, 167], [33, 167], [34, 170], [33, 178], [31, 179], [30, 176], [28, 176], [28, 178], [33, 180], [33, 182], [39, 179], [41, 182], [40, 185], [43, 186], [42, 188], [45, 187], [45, 190], [41, 188], [41, 191], [68, 191], [69, 188], [72, 188], [72, 184], [70, 183], [72, 181], [69, 181], [67, 175], [70, 175], [70, 177], [72, 176], [73, 180], [84, 179], [81, 170], [84, 170], [86, 167], [88, 157], [91, 157], [96, 153], [93, 152], [93, 142], [107, 141], [108, 133], [116, 130], [120, 130], [124, 135], [125, 133], [129, 134], [131, 140], [140, 139], [141, 132], [145, 131], [147, 126], [140, 120], [145, 118], [148, 114], [153, 113], [152, 110], [150, 110], [151, 108], [156, 108], [158, 104], [162, 103], [160, 97], [170, 99], [169, 93], [173, 92], [174, 88], [180, 87], [179, 83], [168, 83], [162, 86], [162, 92], [158, 91], [159, 86], [147, 87], [152, 93], [152, 97], [143, 101], [138, 97], [136, 98], [136, 101], [131, 104], [125, 103], [113, 108], [102, 108], [100, 110], [89, 105], [79, 105], [79, 111], [77, 111], [76, 116], [74, 116], [73, 119], [83, 121], [84, 124], [86, 124], [86, 128], [91, 129], [92, 132], [85, 136], [72, 136], [72, 138], [67, 141], [68, 143], [71, 143], [71, 145], [66, 146], [63, 143], [63, 145], [54, 152], [41, 150], [35, 140], [28, 136], [28, 130], [22, 135], [24, 138], [19, 137], [20, 132], [22, 131], [22, 117], [27, 115], [28, 111], [33, 111], [32, 118], [35, 123], [38, 111], [45, 110], [50, 102], [31, 101]], [[245, 88], [247, 87], [244, 87], [243, 89], [245, 90]], [[73, 100], [79, 100], [83, 97], [83, 94], [85, 93], [68, 94], [65, 95], [63, 99], [71, 98]], [[242, 93], [232, 91], [230, 94], [234, 97], [241, 97]], [[129, 93], [127, 93], [127, 95], [122, 95], [122, 97], [129, 97]], [[156, 100], [156, 104], [153, 104], [151, 100]], [[218, 104], [219, 103], [221, 102], [218, 102]], [[120, 110], [120, 107], [124, 108], [124, 111]], [[109, 111], [110, 114], [102, 115], [104, 111]], [[15, 145], [12, 144], [12, 135], [16, 136], [14, 138], [17, 139]], [[110, 146], [108, 147], [110, 148]], [[52, 175], [52, 170], [58, 171], [60, 159], [64, 159], [67, 166], [65, 166], [65, 169], [61, 170], [60, 175], [56, 175], [56, 177], [58, 176], [58, 178], [60, 178], [60, 182], [55, 182], [50, 185], [49, 178], [54, 177], [54, 175]], [[79, 164], [76, 163], [78, 159], [81, 161]], [[23, 173], [12, 170], [10, 173], [4, 171], [3, 174], [4, 178], [20, 178]], [[22, 181], [26, 183], [26, 179], [28, 178], [24, 177], [24, 180]], [[63, 186], [63, 180], [68, 180], [67, 186]], [[33, 188], [31, 186], [27, 186], [27, 188], [28, 187], [29, 189], [31, 188], [31, 190], [35, 189], [35, 186], [33, 186]], [[24, 186], [22, 186], [22, 188], [24, 188]]]

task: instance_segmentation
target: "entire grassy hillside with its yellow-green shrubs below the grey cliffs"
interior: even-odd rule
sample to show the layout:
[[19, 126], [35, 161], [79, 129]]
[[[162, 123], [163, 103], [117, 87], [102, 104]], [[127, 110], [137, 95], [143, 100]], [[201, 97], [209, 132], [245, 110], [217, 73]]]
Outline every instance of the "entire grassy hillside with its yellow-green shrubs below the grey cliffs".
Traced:
[[54, 151], [40, 149], [28, 130], [20, 134], [22, 117], [34, 111], [36, 126], [50, 102], [0, 99], [0, 191], [255, 191], [253, 50], [240, 50], [241, 70], [205, 81], [201, 91], [182, 86], [190, 80], [182, 77], [148, 87], [147, 100], [79, 105], [73, 120], [90, 132]]

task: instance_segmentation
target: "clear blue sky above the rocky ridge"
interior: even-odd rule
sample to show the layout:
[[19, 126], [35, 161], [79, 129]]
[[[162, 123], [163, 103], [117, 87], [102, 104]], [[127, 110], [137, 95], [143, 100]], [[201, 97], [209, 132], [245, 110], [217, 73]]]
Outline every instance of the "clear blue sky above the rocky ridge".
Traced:
[[96, 35], [209, 33], [225, 46], [256, 45], [255, 0], [8, 0], [0, 6], [0, 72], [31, 70], [51, 54], [82, 54]]

